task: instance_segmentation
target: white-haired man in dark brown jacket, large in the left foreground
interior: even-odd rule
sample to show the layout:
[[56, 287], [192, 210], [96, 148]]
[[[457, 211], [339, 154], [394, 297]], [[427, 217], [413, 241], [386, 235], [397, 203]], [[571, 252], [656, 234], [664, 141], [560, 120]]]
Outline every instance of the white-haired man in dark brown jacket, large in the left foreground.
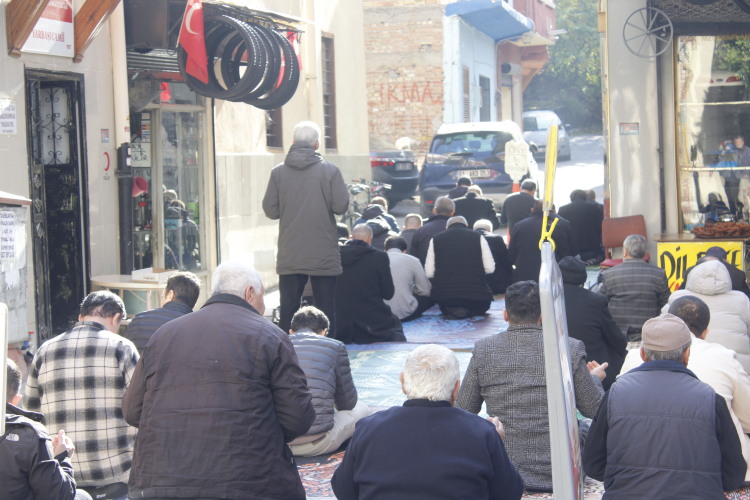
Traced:
[[129, 494], [303, 500], [287, 443], [315, 409], [292, 342], [263, 317], [252, 266], [223, 262], [211, 283], [200, 310], [151, 337], [122, 400], [139, 429]]

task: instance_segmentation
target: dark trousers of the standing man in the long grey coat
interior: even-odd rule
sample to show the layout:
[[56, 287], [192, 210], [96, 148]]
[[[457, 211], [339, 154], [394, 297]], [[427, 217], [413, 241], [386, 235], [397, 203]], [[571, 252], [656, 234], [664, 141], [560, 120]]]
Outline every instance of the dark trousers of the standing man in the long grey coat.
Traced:
[[[289, 333], [292, 317], [299, 309], [302, 292], [305, 290], [306, 274], [284, 274], [279, 276], [279, 328]], [[313, 287], [313, 305], [328, 316], [331, 326], [328, 336], [336, 338], [336, 276], [309, 276]]]

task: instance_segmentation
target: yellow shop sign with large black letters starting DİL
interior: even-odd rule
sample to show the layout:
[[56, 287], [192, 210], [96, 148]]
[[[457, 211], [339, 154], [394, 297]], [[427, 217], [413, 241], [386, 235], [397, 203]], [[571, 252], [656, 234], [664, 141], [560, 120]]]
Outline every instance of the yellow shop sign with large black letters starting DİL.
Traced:
[[726, 250], [727, 262], [744, 270], [742, 245], [742, 241], [660, 242], [656, 246], [657, 262], [659, 267], [667, 273], [669, 289], [674, 292], [685, 281], [685, 271], [693, 267], [711, 247], [721, 247]]

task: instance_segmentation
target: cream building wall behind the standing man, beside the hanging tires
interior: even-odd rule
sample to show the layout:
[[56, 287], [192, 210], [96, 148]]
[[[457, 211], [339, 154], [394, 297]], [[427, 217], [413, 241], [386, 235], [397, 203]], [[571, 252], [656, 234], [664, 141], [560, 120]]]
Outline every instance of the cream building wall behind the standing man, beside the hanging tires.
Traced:
[[[278, 284], [278, 221], [266, 218], [262, 200], [273, 167], [284, 161], [294, 125], [303, 120], [323, 129], [321, 36], [334, 37], [337, 151], [321, 148], [344, 179], [371, 178], [361, 1], [240, 0], [236, 3], [313, 21], [303, 29], [302, 73], [297, 93], [282, 108], [283, 150], [266, 148], [265, 113], [246, 104], [216, 102], [216, 158], [221, 260], [247, 256], [266, 288]], [[321, 143], [323, 141], [321, 140]]]

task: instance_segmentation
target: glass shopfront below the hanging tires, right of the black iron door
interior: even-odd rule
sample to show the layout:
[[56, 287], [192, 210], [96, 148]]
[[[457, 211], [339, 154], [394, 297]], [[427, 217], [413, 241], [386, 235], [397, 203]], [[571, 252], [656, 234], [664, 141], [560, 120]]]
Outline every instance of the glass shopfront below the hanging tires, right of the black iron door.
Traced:
[[135, 268], [199, 271], [206, 267], [202, 99], [185, 84], [161, 85], [154, 103], [130, 116]]

